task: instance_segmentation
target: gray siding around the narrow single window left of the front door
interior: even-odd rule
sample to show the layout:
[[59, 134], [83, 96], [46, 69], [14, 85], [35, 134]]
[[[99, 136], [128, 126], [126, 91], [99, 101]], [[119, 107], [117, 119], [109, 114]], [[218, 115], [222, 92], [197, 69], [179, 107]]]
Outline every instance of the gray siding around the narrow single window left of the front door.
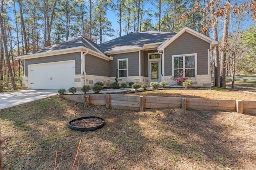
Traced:
[[128, 76], [139, 76], [139, 52], [111, 55], [114, 59], [110, 61], [110, 77], [116, 76], [117, 60], [128, 59]]

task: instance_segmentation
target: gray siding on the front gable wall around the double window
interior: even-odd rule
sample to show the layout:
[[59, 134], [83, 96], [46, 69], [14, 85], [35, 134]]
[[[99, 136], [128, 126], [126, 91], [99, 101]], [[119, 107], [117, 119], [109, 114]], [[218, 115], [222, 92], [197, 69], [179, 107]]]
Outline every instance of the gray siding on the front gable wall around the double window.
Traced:
[[197, 53], [197, 74], [208, 74], [208, 49], [206, 41], [184, 32], [164, 49], [164, 74], [172, 75], [172, 55]]

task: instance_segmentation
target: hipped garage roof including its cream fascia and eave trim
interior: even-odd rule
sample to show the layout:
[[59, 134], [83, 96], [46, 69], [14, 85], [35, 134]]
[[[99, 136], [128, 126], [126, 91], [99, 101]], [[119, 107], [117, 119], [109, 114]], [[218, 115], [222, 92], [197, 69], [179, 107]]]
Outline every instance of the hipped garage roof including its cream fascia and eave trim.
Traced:
[[67, 41], [63, 41], [61, 43], [50, 45], [48, 47], [44, 47], [37, 51], [27, 53], [23, 56], [18, 56], [16, 58], [17, 59], [30, 59], [30, 58], [36, 58], [36, 57], [60, 55], [63, 53], [80, 52], [81, 50], [84, 50], [84, 51], [88, 50], [89, 53], [92, 53], [92, 54], [96, 55], [97, 57], [103, 57], [105, 59], [111, 60], [111, 57], [108, 57], [107, 55], [105, 55], [96, 43], [94, 43], [82, 36], [68, 39]]

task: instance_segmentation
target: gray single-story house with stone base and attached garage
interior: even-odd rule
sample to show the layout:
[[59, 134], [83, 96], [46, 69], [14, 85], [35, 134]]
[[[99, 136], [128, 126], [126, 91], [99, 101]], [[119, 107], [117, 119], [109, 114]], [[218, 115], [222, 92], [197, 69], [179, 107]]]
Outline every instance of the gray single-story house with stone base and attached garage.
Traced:
[[68, 89], [118, 83], [167, 81], [189, 77], [193, 86], [211, 86], [210, 51], [218, 45], [193, 29], [178, 33], [145, 31], [100, 45], [79, 36], [16, 57], [24, 60], [24, 89]]

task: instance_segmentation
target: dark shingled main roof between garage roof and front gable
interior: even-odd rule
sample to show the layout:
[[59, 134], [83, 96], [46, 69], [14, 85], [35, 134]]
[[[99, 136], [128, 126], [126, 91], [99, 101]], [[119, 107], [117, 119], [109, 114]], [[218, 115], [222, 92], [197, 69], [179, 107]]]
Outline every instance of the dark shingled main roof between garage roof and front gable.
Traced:
[[[142, 50], [147, 44], [162, 44], [167, 39], [172, 38], [176, 33], [159, 32], [159, 31], [144, 31], [132, 33], [112, 39], [99, 46], [106, 54], [115, 53], [118, 51]], [[157, 46], [157, 47], [158, 47]]]

